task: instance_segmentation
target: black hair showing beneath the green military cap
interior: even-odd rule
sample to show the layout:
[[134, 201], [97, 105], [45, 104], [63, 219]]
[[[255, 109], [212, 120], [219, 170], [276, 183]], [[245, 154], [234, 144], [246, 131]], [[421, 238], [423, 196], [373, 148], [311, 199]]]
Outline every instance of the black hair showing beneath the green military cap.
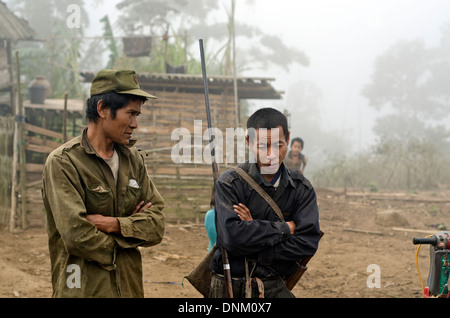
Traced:
[[116, 117], [117, 110], [127, 106], [130, 102], [141, 101], [145, 103], [146, 97], [131, 95], [131, 94], [118, 94], [116, 92], [108, 92], [105, 94], [98, 94], [88, 98], [86, 102], [86, 118], [89, 121], [97, 122], [100, 117], [97, 112], [97, 104], [100, 100], [103, 100], [106, 108], [111, 109], [112, 118]]

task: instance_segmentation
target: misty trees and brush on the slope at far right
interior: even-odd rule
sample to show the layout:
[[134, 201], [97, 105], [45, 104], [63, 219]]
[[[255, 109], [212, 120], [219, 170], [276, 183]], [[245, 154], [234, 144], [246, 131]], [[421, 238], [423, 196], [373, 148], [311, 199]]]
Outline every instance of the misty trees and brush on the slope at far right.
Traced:
[[334, 158], [315, 174], [316, 185], [372, 189], [450, 186], [450, 25], [426, 47], [402, 40], [375, 61], [362, 94], [382, 115], [377, 143], [366, 153]]

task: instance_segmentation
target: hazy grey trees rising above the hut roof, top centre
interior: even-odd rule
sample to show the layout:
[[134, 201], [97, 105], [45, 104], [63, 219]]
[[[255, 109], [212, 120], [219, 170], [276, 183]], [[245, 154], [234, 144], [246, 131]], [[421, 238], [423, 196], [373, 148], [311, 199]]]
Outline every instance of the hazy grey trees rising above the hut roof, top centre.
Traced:
[[[247, 0], [247, 3], [255, 2]], [[193, 39], [205, 39], [208, 44], [207, 54], [209, 53], [211, 59], [215, 59], [212, 67], [208, 67], [211, 75], [229, 73], [232, 36], [230, 22], [234, 18], [229, 7], [230, 0], [123, 0], [117, 5], [121, 10], [119, 25], [128, 35], [150, 34], [155, 40], [159, 38], [159, 41], [162, 41], [161, 36], [168, 31], [175, 35], [175, 38], [182, 37], [186, 32], [188, 46], [196, 44]], [[227, 12], [226, 20], [221, 18], [223, 10]], [[302, 51], [287, 46], [277, 36], [265, 34], [258, 27], [235, 21], [235, 34], [237, 38], [245, 39], [245, 45], [238, 45], [237, 50], [237, 69], [240, 71], [251, 68], [265, 69], [270, 64], [288, 69], [292, 63], [309, 63], [308, 57]], [[157, 42], [155, 44], [158, 46]], [[198, 50], [197, 46], [193, 47], [195, 57], [189, 51], [182, 54], [188, 56], [188, 72], [198, 73], [199, 63], [192, 63], [193, 60], [198, 60]], [[181, 50], [184, 49], [181, 47]], [[168, 61], [171, 62], [170, 58]]]

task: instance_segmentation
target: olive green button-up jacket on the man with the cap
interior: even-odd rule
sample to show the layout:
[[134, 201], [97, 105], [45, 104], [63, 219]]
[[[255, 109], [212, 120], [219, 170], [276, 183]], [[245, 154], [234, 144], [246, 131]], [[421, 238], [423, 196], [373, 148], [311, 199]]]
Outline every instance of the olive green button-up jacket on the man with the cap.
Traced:
[[[134, 142], [133, 142], [134, 144]], [[116, 145], [117, 186], [82, 136], [54, 150], [43, 172], [53, 297], [143, 297], [139, 246], [161, 242], [164, 200], [135, 147]], [[131, 215], [145, 201], [153, 207]], [[99, 231], [86, 214], [116, 217], [121, 235]]]

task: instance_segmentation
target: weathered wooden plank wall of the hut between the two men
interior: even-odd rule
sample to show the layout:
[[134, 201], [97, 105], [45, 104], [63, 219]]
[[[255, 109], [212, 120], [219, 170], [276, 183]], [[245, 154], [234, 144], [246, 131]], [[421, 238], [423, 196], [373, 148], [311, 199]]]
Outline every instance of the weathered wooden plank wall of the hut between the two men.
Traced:
[[[194, 163], [193, 151], [191, 163], [174, 163], [172, 148], [181, 137], [171, 140], [171, 136], [175, 129], [186, 128], [193, 139], [195, 120], [202, 121], [202, 133], [207, 130], [205, 97], [203, 94], [151, 93], [158, 99], [142, 107], [139, 128], [134, 134], [138, 139], [136, 146], [147, 154], [147, 170], [166, 201], [167, 218], [203, 222], [204, 213], [210, 209], [211, 164], [205, 160]], [[213, 127], [224, 134], [226, 128], [235, 127], [233, 95], [210, 95], [210, 107]], [[202, 153], [208, 144], [208, 140], [202, 142]], [[220, 172], [227, 168], [227, 165], [219, 164]]]

